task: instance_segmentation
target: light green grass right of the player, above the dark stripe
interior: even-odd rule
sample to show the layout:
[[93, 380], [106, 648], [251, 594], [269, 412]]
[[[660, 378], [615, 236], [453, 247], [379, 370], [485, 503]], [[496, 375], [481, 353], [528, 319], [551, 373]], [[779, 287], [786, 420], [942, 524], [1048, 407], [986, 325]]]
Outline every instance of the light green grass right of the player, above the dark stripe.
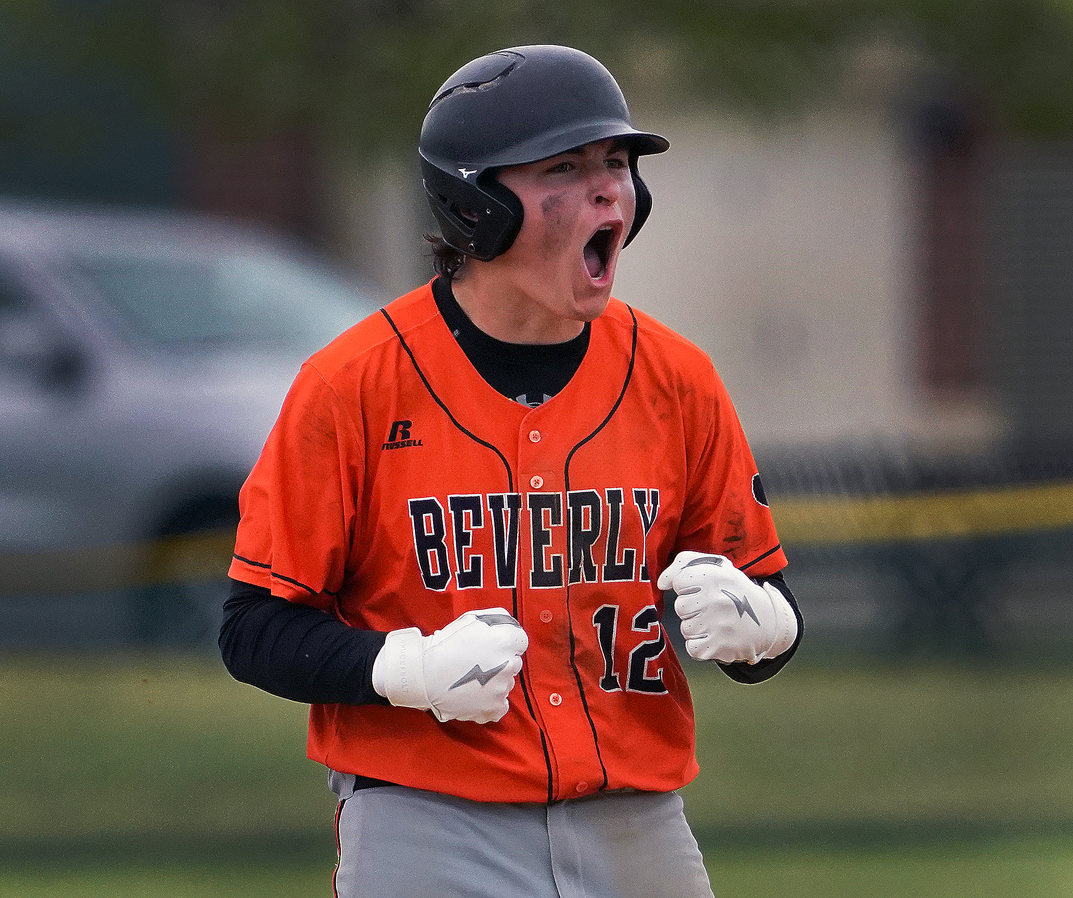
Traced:
[[1073, 823], [1069, 671], [800, 665], [754, 687], [691, 676], [702, 772], [685, 795], [700, 826]]

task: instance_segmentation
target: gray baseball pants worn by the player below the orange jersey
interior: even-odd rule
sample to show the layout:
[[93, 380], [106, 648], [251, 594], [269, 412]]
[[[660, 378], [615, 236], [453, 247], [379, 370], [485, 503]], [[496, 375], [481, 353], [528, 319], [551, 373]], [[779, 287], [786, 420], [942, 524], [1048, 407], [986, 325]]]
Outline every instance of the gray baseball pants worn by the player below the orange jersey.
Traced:
[[714, 898], [673, 792], [514, 805], [329, 779], [338, 898]]

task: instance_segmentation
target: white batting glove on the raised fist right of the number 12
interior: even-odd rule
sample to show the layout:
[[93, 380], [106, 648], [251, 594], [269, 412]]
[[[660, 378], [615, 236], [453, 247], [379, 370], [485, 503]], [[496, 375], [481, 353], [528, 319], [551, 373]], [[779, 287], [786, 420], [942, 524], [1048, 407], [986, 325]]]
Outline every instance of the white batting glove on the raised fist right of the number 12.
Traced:
[[797, 617], [778, 587], [759, 586], [725, 556], [680, 551], [656, 585], [677, 593], [686, 650], [697, 661], [755, 664], [797, 638]]

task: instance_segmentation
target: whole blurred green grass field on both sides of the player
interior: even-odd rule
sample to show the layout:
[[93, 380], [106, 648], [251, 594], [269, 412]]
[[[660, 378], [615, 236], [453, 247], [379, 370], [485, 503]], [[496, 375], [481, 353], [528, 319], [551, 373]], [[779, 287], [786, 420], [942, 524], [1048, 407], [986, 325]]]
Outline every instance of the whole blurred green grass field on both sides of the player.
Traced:
[[[718, 896], [1073, 896], [1073, 671], [691, 666]], [[329, 895], [306, 707], [205, 658], [0, 660], [0, 896]]]

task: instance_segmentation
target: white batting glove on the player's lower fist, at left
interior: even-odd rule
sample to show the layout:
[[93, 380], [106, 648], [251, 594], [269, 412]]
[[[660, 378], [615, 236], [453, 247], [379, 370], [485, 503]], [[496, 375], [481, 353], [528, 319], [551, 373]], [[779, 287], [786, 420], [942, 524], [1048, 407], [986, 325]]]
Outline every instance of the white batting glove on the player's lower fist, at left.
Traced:
[[393, 630], [372, 662], [372, 688], [393, 705], [441, 723], [490, 723], [510, 708], [529, 637], [505, 608], [466, 612], [431, 636]]

